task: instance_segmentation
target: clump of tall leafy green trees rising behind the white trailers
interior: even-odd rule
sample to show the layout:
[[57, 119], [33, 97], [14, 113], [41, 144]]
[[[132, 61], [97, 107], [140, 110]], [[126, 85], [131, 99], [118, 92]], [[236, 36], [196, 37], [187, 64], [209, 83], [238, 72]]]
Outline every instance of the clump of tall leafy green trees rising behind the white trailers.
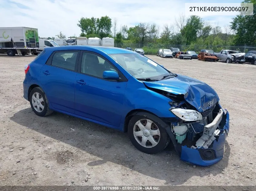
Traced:
[[[107, 37], [111, 33], [111, 18], [108, 16], [101, 18], [81, 18], [78, 21], [78, 27], [80, 27], [82, 34], [97, 34], [98, 37]], [[96, 37], [96, 36], [95, 36]]]

